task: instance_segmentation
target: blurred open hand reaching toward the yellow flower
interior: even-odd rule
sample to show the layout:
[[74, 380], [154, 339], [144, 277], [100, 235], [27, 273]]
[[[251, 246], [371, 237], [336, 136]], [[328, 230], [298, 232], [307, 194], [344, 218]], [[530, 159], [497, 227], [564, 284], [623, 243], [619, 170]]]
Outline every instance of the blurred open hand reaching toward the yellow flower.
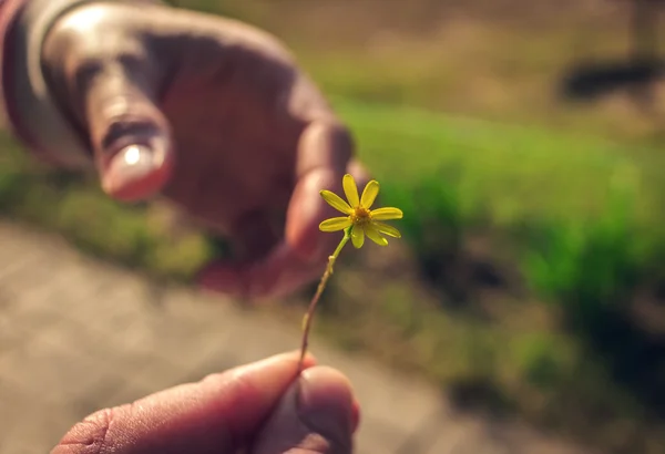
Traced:
[[232, 240], [235, 259], [209, 264], [202, 283], [264, 297], [320, 276], [336, 243], [318, 231], [334, 214], [319, 190], [368, 176], [276, 39], [171, 7], [93, 2], [57, 21], [42, 63], [110, 196], [164, 195]]

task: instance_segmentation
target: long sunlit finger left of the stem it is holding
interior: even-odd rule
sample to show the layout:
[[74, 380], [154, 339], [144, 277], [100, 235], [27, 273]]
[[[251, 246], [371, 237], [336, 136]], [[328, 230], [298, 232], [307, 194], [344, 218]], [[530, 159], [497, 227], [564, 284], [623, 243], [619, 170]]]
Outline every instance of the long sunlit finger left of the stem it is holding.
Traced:
[[[296, 380], [298, 359], [298, 352], [276, 355], [94, 413], [51, 454], [235, 452]], [[308, 357], [305, 367], [311, 365]]]

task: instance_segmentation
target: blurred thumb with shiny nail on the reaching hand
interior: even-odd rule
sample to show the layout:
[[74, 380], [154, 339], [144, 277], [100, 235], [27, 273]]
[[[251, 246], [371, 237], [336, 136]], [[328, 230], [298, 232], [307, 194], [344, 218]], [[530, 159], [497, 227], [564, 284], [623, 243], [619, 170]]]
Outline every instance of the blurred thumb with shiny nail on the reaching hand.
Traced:
[[155, 71], [147, 58], [102, 63], [85, 93], [85, 120], [102, 188], [110, 196], [145, 199], [173, 168], [166, 117], [156, 105]]

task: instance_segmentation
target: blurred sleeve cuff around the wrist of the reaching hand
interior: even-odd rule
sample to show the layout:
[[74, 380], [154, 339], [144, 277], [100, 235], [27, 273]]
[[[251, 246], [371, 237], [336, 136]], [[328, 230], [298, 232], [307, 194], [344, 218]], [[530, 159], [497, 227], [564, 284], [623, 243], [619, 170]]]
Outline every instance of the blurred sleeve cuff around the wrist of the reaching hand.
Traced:
[[49, 90], [42, 71], [42, 43], [60, 17], [94, 1], [99, 0], [0, 0], [0, 107], [4, 123], [40, 159], [60, 167], [89, 168], [92, 153], [86, 134], [74, 126]]

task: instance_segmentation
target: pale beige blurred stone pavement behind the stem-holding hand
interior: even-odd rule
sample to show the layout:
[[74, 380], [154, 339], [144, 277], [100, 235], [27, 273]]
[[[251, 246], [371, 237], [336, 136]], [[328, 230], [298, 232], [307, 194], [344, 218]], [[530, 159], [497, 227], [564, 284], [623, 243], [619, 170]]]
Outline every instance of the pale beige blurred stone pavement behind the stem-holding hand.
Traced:
[[[86, 414], [293, 350], [298, 327], [160, 288], [0, 223], [0, 454], [44, 454]], [[362, 407], [359, 454], [576, 454], [515, 423], [452, 411], [433, 388], [317, 339]]]

